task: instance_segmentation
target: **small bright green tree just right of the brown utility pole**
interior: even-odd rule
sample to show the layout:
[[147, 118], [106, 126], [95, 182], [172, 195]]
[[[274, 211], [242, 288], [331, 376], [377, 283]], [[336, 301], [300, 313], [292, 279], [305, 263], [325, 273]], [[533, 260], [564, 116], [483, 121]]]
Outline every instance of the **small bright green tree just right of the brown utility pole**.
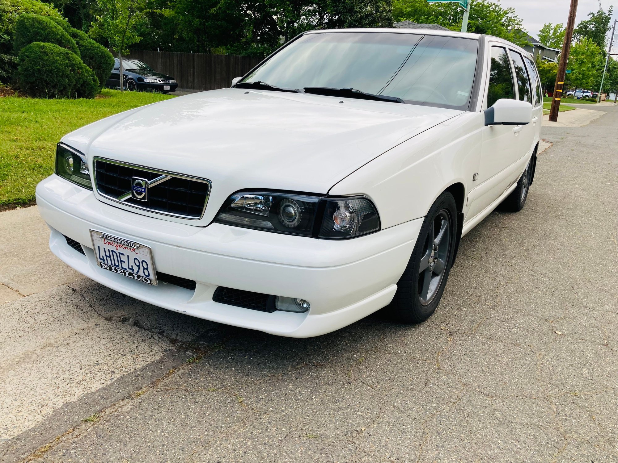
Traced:
[[592, 40], [583, 38], [571, 47], [569, 55], [570, 74], [567, 82], [575, 88], [592, 89], [601, 81], [603, 73], [603, 50]]

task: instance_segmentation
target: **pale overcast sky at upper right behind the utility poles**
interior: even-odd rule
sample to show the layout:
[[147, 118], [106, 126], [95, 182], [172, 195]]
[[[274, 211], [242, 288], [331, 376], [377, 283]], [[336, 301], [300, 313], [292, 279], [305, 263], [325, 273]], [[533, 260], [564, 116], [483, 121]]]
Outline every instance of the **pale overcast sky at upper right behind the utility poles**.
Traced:
[[[544, 23], [563, 23], [567, 25], [570, 0], [501, 0], [500, 4], [502, 7], [513, 7], [517, 15], [522, 19], [523, 27], [528, 30], [530, 35], [535, 37]], [[618, 11], [616, 11], [618, 0], [601, 0], [601, 6], [603, 6], [605, 11], [612, 4], [614, 5], [613, 24], [613, 20], [618, 18]], [[596, 12], [598, 9], [599, 0], [579, 0], [575, 25], [577, 26], [581, 20], [587, 19], [588, 13], [591, 11]], [[616, 49], [616, 45], [614, 45], [614, 49]]]

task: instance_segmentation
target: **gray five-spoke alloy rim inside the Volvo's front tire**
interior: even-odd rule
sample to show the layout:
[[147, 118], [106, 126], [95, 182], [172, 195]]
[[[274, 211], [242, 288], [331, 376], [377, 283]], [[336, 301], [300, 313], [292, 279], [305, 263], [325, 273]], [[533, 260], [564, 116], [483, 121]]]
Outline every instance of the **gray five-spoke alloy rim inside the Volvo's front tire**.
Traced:
[[418, 298], [423, 306], [433, 301], [444, 278], [451, 256], [451, 229], [449, 211], [442, 209], [431, 223], [418, 268]]

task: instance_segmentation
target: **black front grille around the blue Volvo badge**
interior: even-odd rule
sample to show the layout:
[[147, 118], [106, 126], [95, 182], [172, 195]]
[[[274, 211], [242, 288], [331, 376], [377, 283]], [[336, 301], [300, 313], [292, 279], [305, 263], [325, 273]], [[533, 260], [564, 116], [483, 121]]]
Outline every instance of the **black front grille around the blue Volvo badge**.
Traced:
[[[123, 194], [130, 193], [133, 177], [153, 180], [161, 175], [169, 175], [171, 178], [150, 186], [147, 193], [148, 201], [140, 201], [130, 196], [124, 201], [119, 200]], [[106, 198], [140, 209], [187, 219], [201, 218], [210, 194], [209, 180], [96, 158], [95, 183], [96, 190]]]

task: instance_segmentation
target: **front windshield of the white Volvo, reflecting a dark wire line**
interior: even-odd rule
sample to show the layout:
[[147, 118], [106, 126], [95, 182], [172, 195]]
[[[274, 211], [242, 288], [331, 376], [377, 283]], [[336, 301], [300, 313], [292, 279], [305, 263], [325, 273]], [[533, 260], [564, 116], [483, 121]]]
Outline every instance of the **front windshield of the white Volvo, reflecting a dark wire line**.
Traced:
[[407, 33], [311, 33], [289, 44], [243, 82], [282, 88], [354, 88], [413, 104], [464, 109], [478, 41]]

